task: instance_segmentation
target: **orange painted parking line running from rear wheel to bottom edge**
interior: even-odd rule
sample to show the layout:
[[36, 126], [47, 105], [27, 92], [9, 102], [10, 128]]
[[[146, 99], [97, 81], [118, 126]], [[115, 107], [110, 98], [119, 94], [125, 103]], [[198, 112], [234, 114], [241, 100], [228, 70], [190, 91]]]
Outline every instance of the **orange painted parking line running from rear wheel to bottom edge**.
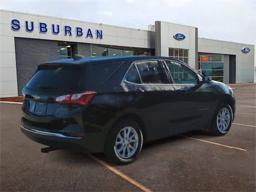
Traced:
[[106, 168], [108, 168], [110, 171], [114, 172], [115, 174], [119, 175], [120, 177], [124, 178], [125, 180], [127, 180], [128, 182], [130, 182], [131, 184], [134, 184], [135, 186], [137, 186], [138, 188], [142, 189], [145, 192], [152, 192], [152, 190], [146, 188], [145, 186], [143, 186], [142, 184], [136, 182], [135, 180], [133, 180], [132, 178], [130, 178], [129, 176], [127, 176], [126, 174], [118, 171], [116, 168], [110, 166], [109, 164], [107, 164], [106, 162], [96, 158], [95, 156], [93, 156], [92, 154], [87, 154], [88, 156], [90, 156], [90, 158], [96, 160], [97, 162], [99, 162], [100, 164], [102, 164], [103, 166], [105, 166]]

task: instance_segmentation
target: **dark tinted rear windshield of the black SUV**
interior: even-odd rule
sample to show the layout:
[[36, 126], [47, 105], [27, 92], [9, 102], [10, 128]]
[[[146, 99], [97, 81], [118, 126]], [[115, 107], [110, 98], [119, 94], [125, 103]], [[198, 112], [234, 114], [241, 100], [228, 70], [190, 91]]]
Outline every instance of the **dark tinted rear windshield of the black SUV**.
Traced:
[[73, 92], [82, 90], [82, 72], [64, 67], [38, 70], [30, 79], [27, 88], [32, 90], [58, 90]]

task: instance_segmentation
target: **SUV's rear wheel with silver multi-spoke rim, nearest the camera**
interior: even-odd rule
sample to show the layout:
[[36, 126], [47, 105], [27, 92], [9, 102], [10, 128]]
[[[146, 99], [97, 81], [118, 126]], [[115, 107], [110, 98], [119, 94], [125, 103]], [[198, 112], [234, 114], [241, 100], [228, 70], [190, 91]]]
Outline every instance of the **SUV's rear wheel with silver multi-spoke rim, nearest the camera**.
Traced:
[[142, 144], [140, 126], [132, 119], [120, 120], [108, 135], [105, 156], [113, 164], [130, 164], [140, 154]]

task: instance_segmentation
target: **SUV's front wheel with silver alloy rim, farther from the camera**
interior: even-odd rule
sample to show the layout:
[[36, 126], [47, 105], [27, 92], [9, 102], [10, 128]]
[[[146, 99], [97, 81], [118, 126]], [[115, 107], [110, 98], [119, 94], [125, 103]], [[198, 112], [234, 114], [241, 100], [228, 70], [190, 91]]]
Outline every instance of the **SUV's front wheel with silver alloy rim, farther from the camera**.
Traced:
[[212, 135], [222, 136], [230, 130], [233, 112], [228, 104], [219, 104], [214, 112], [210, 132]]

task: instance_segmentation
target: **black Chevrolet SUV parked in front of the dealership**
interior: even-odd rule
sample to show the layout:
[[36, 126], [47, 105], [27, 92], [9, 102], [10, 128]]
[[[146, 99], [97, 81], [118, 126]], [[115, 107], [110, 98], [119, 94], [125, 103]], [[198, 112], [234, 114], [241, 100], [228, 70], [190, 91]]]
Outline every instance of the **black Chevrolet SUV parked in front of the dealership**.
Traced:
[[54, 148], [134, 161], [143, 142], [208, 128], [224, 135], [231, 88], [173, 58], [120, 56], [40, 64], [22, 90], [21, 131]]

